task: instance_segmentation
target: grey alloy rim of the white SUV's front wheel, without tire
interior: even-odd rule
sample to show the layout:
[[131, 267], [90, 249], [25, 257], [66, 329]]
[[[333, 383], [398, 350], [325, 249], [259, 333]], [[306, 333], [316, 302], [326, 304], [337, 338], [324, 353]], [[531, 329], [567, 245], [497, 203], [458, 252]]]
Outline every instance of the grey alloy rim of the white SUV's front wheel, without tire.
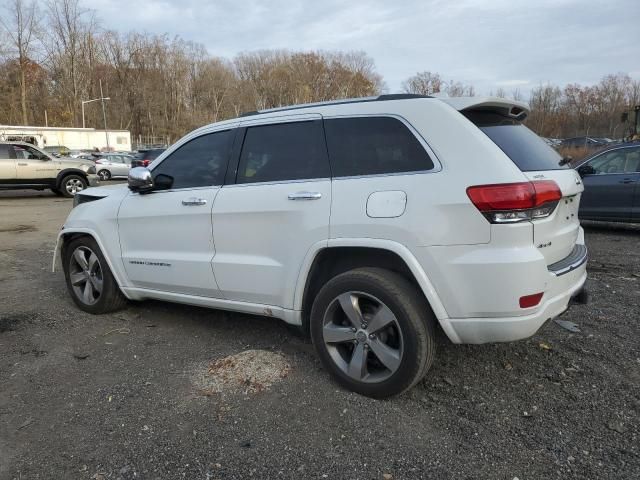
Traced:
[[78, 247], [69, 260], [69, 280], [76, 297], [93, 305], [102, 295], [103, 276], [100, 260], [89, 247]]

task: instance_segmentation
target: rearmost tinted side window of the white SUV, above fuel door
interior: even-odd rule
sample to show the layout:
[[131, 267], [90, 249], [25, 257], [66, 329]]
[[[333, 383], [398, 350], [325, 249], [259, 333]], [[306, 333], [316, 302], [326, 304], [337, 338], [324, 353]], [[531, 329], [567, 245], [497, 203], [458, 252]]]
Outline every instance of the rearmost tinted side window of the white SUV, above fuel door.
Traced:
[[396, 118], [332, 118], [324, 127], [334, 177], [433, 169], [418, 139]]

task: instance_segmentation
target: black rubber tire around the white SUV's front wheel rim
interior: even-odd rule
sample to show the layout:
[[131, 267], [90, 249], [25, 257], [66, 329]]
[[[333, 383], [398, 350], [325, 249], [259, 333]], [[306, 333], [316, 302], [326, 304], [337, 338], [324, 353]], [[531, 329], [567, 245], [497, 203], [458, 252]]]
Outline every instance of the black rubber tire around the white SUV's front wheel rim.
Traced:
[[[77, 268], [78, 263], [74, 258], [76, 250], [79, 250], [85, 254], [85, 259], [87, 259], [90, 263], [91, 257], [88, 255], [88, 252], [91, 252], [96, 255], [98, 268], [100, 271], [100, 276], [98, 280], [101, 280], [101, 291], [99, 295], [95, 295], [96, 289], [93, 288], [93, 283], [90, 289], [94, 290], [94, 294], [91, 295], [93, 303], [89, 303], [84, 300], [84, 297], [77, 291], [78, 288], [80, 290], [84, 290], [82, 284], [74, 285], [72, 284], [72, 275], [77, 274], [81, 275]], [[74, 264], [75, 262], [75, 264]], [[115, 278], [109, 269], [109, 265], [98, 247], [97, 242], [90, 236], [82, 236], [72, 240], [69, 245], [65, 245], [63, 256], [62, 256], [62, 265], [64, 268], [64, 277], [67, 283], [67, 290], [71, 295], [74, 303], [85, 312], [93, 313], [93, 314], [101, 314], [108, 313], [119, 310], [123, 308], [127, 304], [127, 299], [120, 291], [120, 287], [116, 283]], [[95, 273], [95, 271], [94, 271]], [[85, 275], [86, 272], [85, 272]], [[89, 274], [91, 276], [91, 274]], [[97, 278], [96, 275], [93, 275], [94, 279]], [[74, 277], [74, 279], [77, 277]], [[88, 282], [88, 280], [87, 280]], [[87, 283], [85, 282], [85, 284]]]

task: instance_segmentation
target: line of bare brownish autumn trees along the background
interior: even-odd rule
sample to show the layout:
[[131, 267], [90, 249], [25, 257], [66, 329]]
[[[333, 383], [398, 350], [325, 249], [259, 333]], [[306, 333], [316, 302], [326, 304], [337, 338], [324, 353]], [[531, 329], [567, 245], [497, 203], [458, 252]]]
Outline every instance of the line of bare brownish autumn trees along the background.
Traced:
[[[227, 59], [179, 37], [103, 28], [79, 0], [10, 0], [0, 39], [0, 124], [81, 126], [81, 102], [99, 98], [102, 86], [109, 128], [172, 142], [244, 111], [386, 91], [365, 52], [261, 50]], [[428, 71], [402, 88], [476, 94]], [[518, 90], [493, 94], [522, 100]], [[541, 85], [531, 92], [528, 123], [543, 136], [620, 137], [620, 114], [638, 103], [640, 82], [625, 74], [594, 86]], [[99, 102], [85, 110], [87, 126], [102, 128]]]

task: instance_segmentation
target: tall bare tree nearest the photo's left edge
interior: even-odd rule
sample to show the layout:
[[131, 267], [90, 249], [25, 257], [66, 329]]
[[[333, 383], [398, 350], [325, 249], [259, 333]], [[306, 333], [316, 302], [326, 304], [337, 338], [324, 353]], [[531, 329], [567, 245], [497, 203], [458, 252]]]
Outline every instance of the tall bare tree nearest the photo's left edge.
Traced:
[[27, 71], [33, 54], [35, 36], [38, 29], [38, 15], [35, 0], [25, 3], [23, 0], [14, 0], [6, 6], [7, 16], [0, 17], [0, 25], [18, 57], [18, 69], [20, 73], [20, 107], [22, 112], [22, 124], [28, 125], [27, 115]]

